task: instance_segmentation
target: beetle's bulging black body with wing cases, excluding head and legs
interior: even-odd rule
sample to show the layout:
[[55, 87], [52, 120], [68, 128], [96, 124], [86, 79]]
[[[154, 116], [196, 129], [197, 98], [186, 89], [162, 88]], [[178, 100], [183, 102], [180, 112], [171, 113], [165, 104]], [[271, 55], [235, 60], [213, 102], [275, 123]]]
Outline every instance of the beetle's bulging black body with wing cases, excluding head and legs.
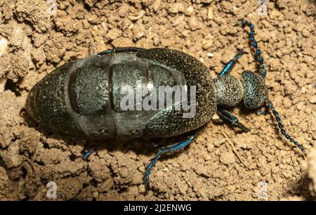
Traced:
[[[122, 86], [197, 86], [194, 118], [182, 110], [121, 110]], [[177, 136], [209, 122], [216, 89], [199, 60], [167, 48], [112, 51], [74, 60], [41, 79], [29, 92], [27, 112], [47, 129], [89, 139]]]

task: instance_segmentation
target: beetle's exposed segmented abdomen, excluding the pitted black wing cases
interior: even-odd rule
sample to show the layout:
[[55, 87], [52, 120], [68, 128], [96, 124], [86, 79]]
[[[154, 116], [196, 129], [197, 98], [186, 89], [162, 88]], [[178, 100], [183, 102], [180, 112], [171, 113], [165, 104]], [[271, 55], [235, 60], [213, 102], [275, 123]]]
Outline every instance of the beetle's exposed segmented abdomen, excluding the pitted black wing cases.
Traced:
[[[143, 89], [166, 85], [185, 85], [185, 78], [135, 53], [112, 53], [58, 67], [29, 92], [26, 107], [39, 124], [60, 133], [91, 139], [135, 138], [145, 135], [145, 125], [160, 111], [159, 103], [154, 110], [143, 110], [136, 94], [142, 93], [142, 102], [150, 95]], [[135, 95], [129, 110], [121, 107], [124, 86]]]

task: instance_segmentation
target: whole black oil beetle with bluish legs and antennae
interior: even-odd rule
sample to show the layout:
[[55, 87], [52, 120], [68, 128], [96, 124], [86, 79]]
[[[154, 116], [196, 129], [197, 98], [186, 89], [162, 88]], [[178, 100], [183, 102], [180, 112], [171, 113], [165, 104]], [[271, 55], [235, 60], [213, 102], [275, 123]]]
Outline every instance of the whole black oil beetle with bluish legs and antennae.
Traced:
[[[250, 27], [249, 39], [256, 50], [261, 74], [244, 71], [241, 81], [229, 74], [244, 51], [239, 51], [218, 77], [211, 79], [209, 69], [203, 63], [182, 51], [114, 48], [90, 58], [65, 63], [46, 75], [29, 92], [27, 112], [41, 126], [71, 136], [150, 139], [190, 133], [209, 122], [216, 112], [232, 126], [248, 132], [250, 130], [237, 117], [225, 110], [225, 107], [233, 107], [243, 100], [250, 109], [268, 107], [282, 135], [305, 155], [303, 146], [284, 130], [279, 114], [268, 100], [265, 66], [254, 39], [254, 25], [245, 20], [237, 24]], [[136, 91], [139, 87], [136, 80], [141, 80], [145, 85], [152, 84], [153, 88], [166, 85], [196, 86], [195, 117], [183, 118], [183, 110], [175, 110], [179, 103], [172, 103], [164, 110], [121, 110], [120, 89], [130, 85]], [[188, 135], [185, 141], [159, 149], [145, 170], [146, 190], [150, 188], [150, 171], [159, 157], [184, 148], [194, 138], [194, 134]], [[92, 149], [86, 152], [84, 159], [91, 152]]]

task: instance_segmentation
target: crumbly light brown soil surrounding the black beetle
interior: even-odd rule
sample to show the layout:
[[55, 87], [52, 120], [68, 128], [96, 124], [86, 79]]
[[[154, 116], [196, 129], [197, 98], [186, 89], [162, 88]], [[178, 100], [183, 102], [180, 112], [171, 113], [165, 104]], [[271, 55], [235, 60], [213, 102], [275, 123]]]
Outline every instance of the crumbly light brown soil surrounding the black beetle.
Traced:
[[[246, 0], [54, 2], [0, 0], [0, 37], [8, 41], [8, 52], [0, 55], [0, 79], [8, 79], [0, 92], [0, 200], [53, 200], [47, 195], [50, 181], [57, 200], [315, 198], [315, 1], [268, 1], [268, 15], [258, 15], [258, 1]], [[232, 112], [251, 132], [209, 122], [185, 150], [157, 162], [152, 190], [144, 195], [145, 164], [156, 151], [150, 144], [99, 141], [84, 161], [87, 141], [44, 131], [25, 112], [27, 93], [55, 67], [116, 46], [185, 51], [209, 67], [212, 77], [244, 48], [248, 54], [232, 74], [256, 71], [248, 34], [234, 26], [242, 18], [256, 26], [269, 98], [308, 159], [284, 141], [271, 115], [239, 105]]]

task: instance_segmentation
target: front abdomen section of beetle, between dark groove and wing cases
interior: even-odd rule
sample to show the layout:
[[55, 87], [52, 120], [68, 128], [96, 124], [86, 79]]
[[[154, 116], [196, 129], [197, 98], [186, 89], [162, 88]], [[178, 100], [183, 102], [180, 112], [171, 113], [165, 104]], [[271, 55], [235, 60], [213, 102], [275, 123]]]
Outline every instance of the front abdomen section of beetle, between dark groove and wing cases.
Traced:
[[[149, 109], [145, 106], [146, 97], [148, 98], [152, 93], [157, 93], [159, 86], [185, 85], [183, 74], [169, 67], [164, 67], [164, 65], [150, 62], [150, 60], [138, 58], [133, 54], [113, 54], [112, 62], [114, 64], [110, 66], [110, 75], [112, 76], [117, 138], [144, 136], [147, 122], [161, 111], [159, 110], [158, 96], [156, 105], [151, 104]], [[126, 105], [126, 98], [129, 97], [127, 94], [131, 96], [128, 105]], [[166, 105], [165, 101], [163, 102]], [[123, 107], [124, 105], [126, 107]], [[126, 110], [127, 107], [128, 110]]]

